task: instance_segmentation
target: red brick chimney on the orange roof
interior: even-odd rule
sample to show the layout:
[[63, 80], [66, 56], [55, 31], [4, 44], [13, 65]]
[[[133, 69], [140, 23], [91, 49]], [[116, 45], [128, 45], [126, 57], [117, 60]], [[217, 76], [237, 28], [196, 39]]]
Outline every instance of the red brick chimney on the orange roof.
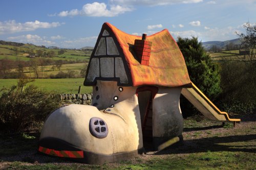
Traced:
[[142, 35], [142, 40], [135, 40], [134, 50], [140, 64], [148, 65], [150, 63], [151, 46], [152, 42], [146, 41], [146, 34]]

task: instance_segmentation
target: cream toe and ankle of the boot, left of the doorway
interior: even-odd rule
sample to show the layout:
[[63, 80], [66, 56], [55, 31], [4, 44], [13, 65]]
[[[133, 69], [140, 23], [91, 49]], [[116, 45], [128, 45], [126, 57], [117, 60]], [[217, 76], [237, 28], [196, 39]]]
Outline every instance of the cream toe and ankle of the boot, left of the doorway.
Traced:
[[[103, 155], [141, 149], [141, 121], [135, 93], [136, 87], [119, 87], [114, 81], [97, 81], [93, 87], [96, 107], [69, 105], [55, 110], [47, 118], [40, 139], [58, 138], [83, 151]], [[92, 117], [103, 119], [108, 126], [105, 138], [90, 133]]]

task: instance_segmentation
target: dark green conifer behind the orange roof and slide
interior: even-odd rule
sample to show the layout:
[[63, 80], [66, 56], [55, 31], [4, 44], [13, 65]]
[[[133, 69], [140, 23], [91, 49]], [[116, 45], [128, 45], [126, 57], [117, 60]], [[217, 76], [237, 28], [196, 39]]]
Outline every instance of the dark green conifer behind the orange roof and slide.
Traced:
[[[215, 100], [221, 92], [218, 65], [212, 62], [197, 37], [178, 37], [177, 44], [185, 59], [190, 80], [210, 100]], [[185, 102], [181, 98], [181, 105], [190, 112], [191, 105], [188, 104], [188, 101]]]

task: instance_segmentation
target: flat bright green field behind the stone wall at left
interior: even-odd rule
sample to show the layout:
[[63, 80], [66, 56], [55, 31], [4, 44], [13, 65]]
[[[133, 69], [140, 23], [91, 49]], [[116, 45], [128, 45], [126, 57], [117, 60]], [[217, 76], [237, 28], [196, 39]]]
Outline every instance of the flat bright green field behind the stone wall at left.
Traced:
[[[34, 84], [38, 88], [55, 93], [77, 93], [81, 86], [80, 93], [91, 93], [92, 87], [83, 86], [84, 78], [78, 79], [34, 79], [35, 81], [29, 84]], [[16, 79], [0, 79], [0, 89], [9, 88], [12, 85], [17, 85]]]

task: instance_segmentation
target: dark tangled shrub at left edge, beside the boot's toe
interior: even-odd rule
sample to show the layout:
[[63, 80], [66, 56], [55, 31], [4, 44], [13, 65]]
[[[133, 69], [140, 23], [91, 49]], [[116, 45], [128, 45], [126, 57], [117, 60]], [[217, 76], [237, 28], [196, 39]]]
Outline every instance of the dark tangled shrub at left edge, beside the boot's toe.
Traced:
[[59, 98], [26, 85], [28, 81], [19, 80], [17, 86], [2, 89], [0, 95], [0, 128], [8, 131], [23, 131], [45, 120], [47, 115], [59, 107]]

